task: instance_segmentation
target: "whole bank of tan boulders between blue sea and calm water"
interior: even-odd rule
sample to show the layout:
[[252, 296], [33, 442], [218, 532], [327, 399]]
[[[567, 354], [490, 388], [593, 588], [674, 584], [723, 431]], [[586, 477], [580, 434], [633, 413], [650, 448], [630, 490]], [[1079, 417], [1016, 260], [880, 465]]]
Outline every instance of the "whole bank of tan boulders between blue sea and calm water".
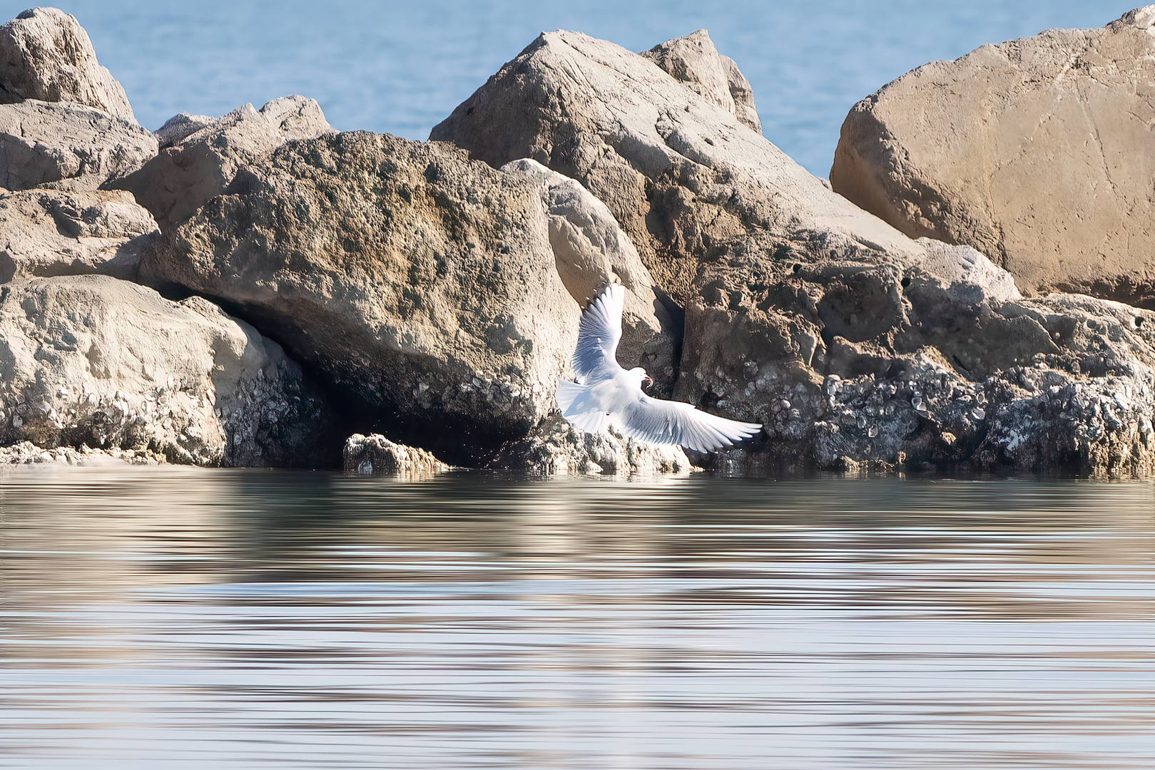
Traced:
[[[983, 46], [856, 105], [827, 182], [705, 30], [543, 33], [413, 142], [300, 96], [148, 132], [76, 20], [28, 10], [0, 27], [0, 464], [1147, 476], [1153, 82], [1155, 6]], [[621, 364], [755, 441], [560, 419], [612, 279]]]

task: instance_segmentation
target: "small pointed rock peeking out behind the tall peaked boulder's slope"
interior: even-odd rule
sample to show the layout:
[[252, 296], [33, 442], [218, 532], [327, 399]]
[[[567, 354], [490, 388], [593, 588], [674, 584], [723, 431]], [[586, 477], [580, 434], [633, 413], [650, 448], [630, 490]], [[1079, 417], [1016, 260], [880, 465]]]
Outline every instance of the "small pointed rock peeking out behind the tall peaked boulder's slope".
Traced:
[[733, 59], [717, 52], [706, 30], [700, 29], [686, 37], [660, 43], [649, 51], [642, 51], [641, 55], [707, 102], [733, 113], [738, 120], [759, 134], [762, 133], [750, 81]]

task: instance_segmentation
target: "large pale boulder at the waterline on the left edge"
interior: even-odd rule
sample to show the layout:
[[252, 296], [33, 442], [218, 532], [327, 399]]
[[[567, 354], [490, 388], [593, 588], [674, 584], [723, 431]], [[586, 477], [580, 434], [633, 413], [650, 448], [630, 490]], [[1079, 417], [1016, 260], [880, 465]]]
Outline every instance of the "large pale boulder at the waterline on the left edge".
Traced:
[[107, 276], [0, 287], [0, 446], [312, 466], [326, 428], [300, 367], [204, 299]]

